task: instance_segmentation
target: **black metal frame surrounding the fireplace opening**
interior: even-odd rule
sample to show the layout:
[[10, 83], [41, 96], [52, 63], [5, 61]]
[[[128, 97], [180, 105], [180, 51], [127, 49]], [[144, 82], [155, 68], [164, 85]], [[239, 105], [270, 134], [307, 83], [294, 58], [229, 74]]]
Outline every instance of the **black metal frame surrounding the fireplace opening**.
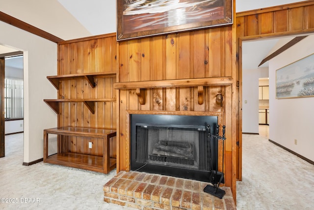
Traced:
[[[174, 176], [185, 179], [200, 180], [200, 181], [210, 181], [211, 169], [215, 168], [216, 163], [215, 158], [218, 158], [218, 151], [212, 150], [217, 148], [215, 141], [209, 141], [207, 139], [208, 127], [215, 128], [218, 124], [218, 116], [185, 116], [185, 115], [150, 115], [150, 114], [131, 114], [130, 115], [130, 132], [131, 132], [131, 171], [148, 172], [154, 174], [161, 174], [166, 176]], [[194, 170], [186, 168], [176, 168], [169, 167], [167, 165], [155, 165], [150, 163], [143, 163], [136, 161], [136, 126], [156, 126], [156, 127], [178, 127], [186, 129], [198, 129], [200, 130], [200, 135], [204, 135], [205, 141], [209, 141], [206, 145], [210, 144], [211, 148], [211, 163], [213, 165], [209, 166], [206, 170]], [[210, 134], [214, 135], [214, 130], [210, 130]], [[135, 141], [134, 141], [135, 140]], [[209, 145], [207, 146], [209, 148]], [[207, 148], [207, 149], [208, 149]], [[202, 151], [200, 151], [202, 152]], [[209, 157], [206, 159], [209, 165]], [[171, 170], [170, 170], [171, 168]]]

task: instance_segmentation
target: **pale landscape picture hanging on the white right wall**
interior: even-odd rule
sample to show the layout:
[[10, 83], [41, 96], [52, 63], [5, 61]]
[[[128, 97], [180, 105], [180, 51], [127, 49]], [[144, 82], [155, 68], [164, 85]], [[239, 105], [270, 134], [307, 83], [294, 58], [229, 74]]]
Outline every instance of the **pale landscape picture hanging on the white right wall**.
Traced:
[[314, 54], [276, 70], [276, 98], [314, 96]]

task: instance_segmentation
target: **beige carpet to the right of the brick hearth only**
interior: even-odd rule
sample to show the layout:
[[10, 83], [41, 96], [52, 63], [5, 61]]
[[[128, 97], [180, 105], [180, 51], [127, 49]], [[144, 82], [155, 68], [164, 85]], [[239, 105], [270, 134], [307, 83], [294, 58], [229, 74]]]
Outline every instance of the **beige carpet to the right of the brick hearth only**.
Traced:
[[259, 135], [243, 135], [238, 210], [314, 210], [314, 165]]

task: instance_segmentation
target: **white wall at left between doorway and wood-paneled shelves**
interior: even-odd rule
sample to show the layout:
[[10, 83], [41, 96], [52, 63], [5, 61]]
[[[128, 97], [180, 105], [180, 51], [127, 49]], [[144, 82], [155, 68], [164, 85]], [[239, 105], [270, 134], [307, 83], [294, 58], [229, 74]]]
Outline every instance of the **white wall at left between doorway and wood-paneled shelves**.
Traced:
[[43, 99], [56, 98], [47, 76], [57, 74], [57, 44], [0, 21], [0, 44], [24, 53], [24, 160], [43, 157], [43, 130], [57, 126], [57, 116]]

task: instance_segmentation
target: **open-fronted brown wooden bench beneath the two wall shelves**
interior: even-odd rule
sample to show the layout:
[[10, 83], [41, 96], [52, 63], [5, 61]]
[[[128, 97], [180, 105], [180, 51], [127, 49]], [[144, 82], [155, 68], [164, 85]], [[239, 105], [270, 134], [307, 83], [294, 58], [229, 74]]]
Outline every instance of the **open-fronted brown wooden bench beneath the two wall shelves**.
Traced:
[[[57, 153], [48, 155], [49, 138], [48, 134], [56, 134], [57, 138]], [[109, 129], [93, 129], [80, 127], [58, 127], [44, 130], [44, 162], [70, 166], [90, 171], [109, 173], [116, 168], [116, 158], [110, 158], [110, 138], [116, 136], [116, 130]], [[82, 137], [82, 142], [87, 145], [86, 151], [73, 152], [70, 149], [72, 137]], [[87, 137], [87, 138], [86, 138]], [[90, 138], [101, 138], [97, 148], [101, 148], [102, 152], [91, 152], [88, 146], [93, 142], [88, 141]], [[95, 147], [95, 145], [94, 145]], [[100, 155], [102, 154], [102, 155]]]

